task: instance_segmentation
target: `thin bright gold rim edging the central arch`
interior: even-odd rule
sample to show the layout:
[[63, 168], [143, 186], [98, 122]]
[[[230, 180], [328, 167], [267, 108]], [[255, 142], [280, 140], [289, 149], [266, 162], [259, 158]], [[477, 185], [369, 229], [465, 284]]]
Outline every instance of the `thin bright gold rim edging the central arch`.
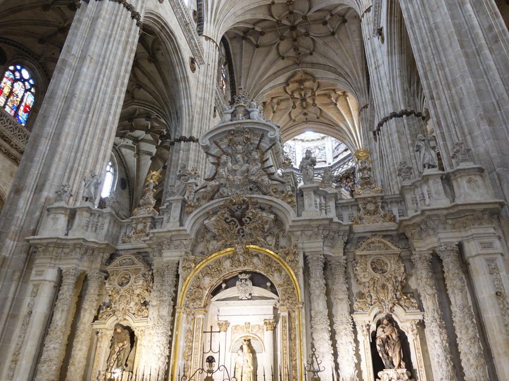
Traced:
[[[270, 258], [274, 259], [277, 263], [279, 263], [279, 265], [281, 265], [282, 268], [284, 268], [286, 270], [286, 272], [290, 276], [290, 279], [292, 279], [295, 293], [297, 295], [297, 302], [295, 303], [295, 305], [296, 305], [296, 310], [297, 310], [296, 311], [297, 341], [298, 341], [298, 343], [297, 343], [297, 345], [298, 345], [298, 359], [297, 359], [297, 361], [299, 362], [299, 365], [298, 365], [299, 378], [300, 378], [300, 381], [305, 381], [304, 369], [303, 369], [304, 359], [303, 359], [303, 350], [302, 350], [302, 315], [301, 315], [303, 303], [301, 300], [300, 287], [299, 287], [299, 282], [297, 280], [297, 277], [295, 276], [295, 273], [293, 272], [292, 268], [288, 265], [288, 263], [284, 259], [279, 257], [274, 251], [266, 249], [261, 246], [257, 246], [257, 245], [246, 245], [246, 247], [248, 249], [260, 252], [260, 253], [265, 254], [265, 255], [269, 256]], [[182, 325], [182, 312], [184, 310], [183, 304], [184, 304], [184, 299], [185, 299], [187, 290], [189, 288], [189, 284], [191, 283], [191, 280], [194, 278], [194, 276], [197, 273], [199, 273], [203, 267], [207, 266], [210, 262], [216, 260], [217, 258], [228, 255], [234, 251], [235, 251], [234, 247], [229, 247], [227, 249], [215, 252], [211, 256], [207, 257], [206, 259], [204, 259], [202, 262], [200, 262], [193, 268], [193, 270], [189, 273], [186, 280], [184, 281], [184, 284], [182, 285], [182, 289], [180, 290], [180, 294], [179, 294], [179, 299], [177, 301], [178, 304], [175, 307], [176, 311], [177, 311], [177, 316], [175, 319], [176, 320], [176, 326], [175, 326], [176, 330], [175, 330], [175, 336], [173, 339], [175, 342], [175, 346], [174, 346], [174, 352], [173, 352], [174, 359], [173, 359], [173, 365], [172, 365], [172, 380], [174, 380], [174, 381], [178, 381], [177, 373], [178, 373], [178, 361], [179, 361], [179, 356], [180, 356], [179, 342], [180, 342], [180, 333], [181, 333], [181, 325]]]

